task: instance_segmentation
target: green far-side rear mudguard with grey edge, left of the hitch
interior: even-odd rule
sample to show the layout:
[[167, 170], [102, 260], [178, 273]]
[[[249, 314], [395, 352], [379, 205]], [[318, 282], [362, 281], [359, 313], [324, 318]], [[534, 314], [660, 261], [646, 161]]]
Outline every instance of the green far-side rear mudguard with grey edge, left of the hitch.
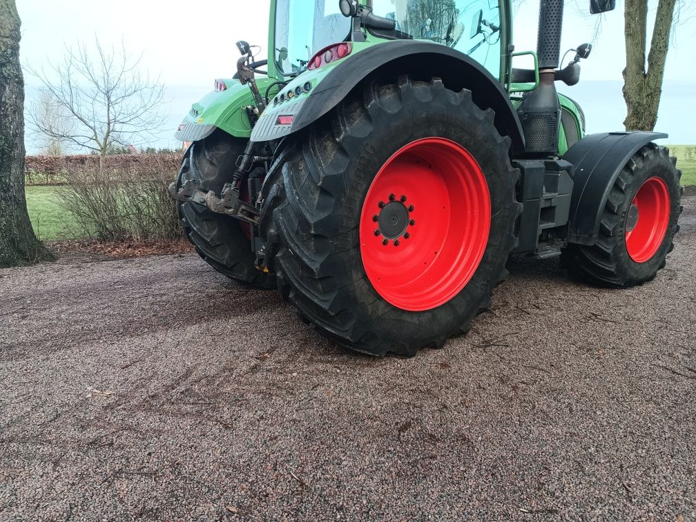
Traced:
[[[253, 95], [247, 85], [242, 85], [237, 79], [223, 79], [225, 90], [212, 91], [199, 102], [191, 106], [191, 110], [179, 125], [175, 137], [179, 141], [198, 141], [212, 134], [219, 128], [232, 136], [248, 138], [251, 136], [251, 121], [249, 121], [246, 106], [253, 105]], [[267, 77], [257, 80], [261, 93], [274, 81]]]

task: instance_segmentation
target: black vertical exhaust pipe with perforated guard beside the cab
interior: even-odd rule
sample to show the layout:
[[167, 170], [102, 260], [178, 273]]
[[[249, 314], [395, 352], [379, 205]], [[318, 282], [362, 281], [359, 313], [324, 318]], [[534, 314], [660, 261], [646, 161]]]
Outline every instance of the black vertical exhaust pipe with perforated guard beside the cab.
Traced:
[[518, 113], [525, 134], [526, 150], [533, 156], [558, 152], [561, 107], [556, 92], [555, 70], [560, 65], [563, 0], [539, 3], [539, 87], [525, 93]]

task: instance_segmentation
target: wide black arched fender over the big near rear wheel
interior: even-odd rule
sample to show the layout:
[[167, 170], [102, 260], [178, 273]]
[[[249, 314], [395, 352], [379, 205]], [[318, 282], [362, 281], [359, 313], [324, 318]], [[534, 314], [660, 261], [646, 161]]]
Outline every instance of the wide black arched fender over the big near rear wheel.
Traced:
[[260, 120], [251, 139], [269, 141], [293, 134], [331, 111], [363, 81], [375, 77], [396, 79], [400, 74], [428, 81], [438, 77], [456, 91], [467, 88], [475, 104], [496, 112], [496, 128], [512, 139], [512, 152], [524, 150], [522, 125], [498, 79], [466, 54], [422, 40], [384, 42], [349, 56], [326, 74], [310, 96], [283, 110], [283, 115], [294, 116], [292, 125], [276, 125], [276, 118], [262, 118], [266, 121]]

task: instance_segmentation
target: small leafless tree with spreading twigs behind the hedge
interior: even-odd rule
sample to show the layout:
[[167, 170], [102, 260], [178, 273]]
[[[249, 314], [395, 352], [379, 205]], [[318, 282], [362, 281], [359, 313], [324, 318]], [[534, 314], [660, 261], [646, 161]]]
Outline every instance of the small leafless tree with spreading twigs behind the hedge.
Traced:
[[63, 62], [49, 72], [30, 68], [69, 122], [56, 127], [33, 110], [32, 127], [47, 139], [96, 152], [102, 166], [109, 150], [145, 143], [161, 131], [166, 115], [164, 85], [141, 71], [141, 58], [125, 45], [107, 50], [95, 39], [92, 49], [84, 43], [66, 47]]

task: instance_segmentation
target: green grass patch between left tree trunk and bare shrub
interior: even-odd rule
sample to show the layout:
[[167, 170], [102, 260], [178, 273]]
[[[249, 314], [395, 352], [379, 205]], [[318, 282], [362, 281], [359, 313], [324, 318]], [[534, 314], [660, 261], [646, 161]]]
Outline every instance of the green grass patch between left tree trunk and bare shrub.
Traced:
[[72, 216], [58, 205], [58, 191], [64, 187], [26, 187], [26, 207], [34, 232], [42, 241], [72, 239], [74, 225]]

